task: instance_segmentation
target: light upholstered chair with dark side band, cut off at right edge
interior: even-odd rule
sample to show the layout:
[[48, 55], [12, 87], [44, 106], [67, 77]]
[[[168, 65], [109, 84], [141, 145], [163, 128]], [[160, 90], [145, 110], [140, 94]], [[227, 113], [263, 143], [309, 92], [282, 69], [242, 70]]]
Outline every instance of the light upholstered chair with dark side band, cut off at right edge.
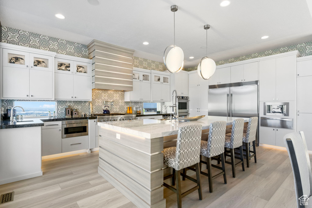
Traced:
[[302, 131], [286, 134], [284, 143], [294, 174], [297, 207], [312, 207], [312, 173], [305, 135]]

